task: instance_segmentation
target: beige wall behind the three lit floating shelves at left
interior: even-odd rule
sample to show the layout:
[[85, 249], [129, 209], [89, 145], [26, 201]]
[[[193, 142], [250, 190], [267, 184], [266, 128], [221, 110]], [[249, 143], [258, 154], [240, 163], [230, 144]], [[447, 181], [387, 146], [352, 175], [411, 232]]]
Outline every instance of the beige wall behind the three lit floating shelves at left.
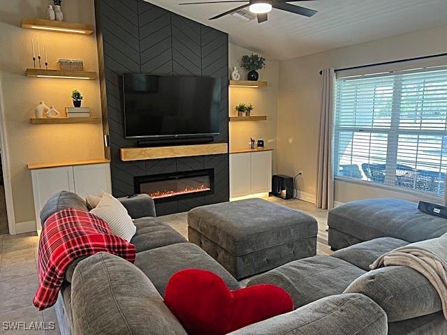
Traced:
[[[0, 10], [0, 81], [4, 122], [10, 154], [10, 177], [16, 225], [35, 228], [34, 202], [29, 163], [103, 158], [101, 124], [31, 125], [29, 118], [39, 101], [54, 105], [64, 113], [73, 106], [71, 91], [78, 89], [83, 105], [91, 114], [101, 116], [98, 80], [61, 80], [25, 77], [32, 67], [31, 36], [47, 45], [50, 68], [57, 60], [82, 59], [85, 70], [98, 72], [96, 35], [82, 36], [22, 29], [22, 17], [46, 17], [50, 1], [1, 1]], [[67, 22], [94, 24], [94, 0], [63, 1]], [[22, 230], [23, 232], [23, 230]]]

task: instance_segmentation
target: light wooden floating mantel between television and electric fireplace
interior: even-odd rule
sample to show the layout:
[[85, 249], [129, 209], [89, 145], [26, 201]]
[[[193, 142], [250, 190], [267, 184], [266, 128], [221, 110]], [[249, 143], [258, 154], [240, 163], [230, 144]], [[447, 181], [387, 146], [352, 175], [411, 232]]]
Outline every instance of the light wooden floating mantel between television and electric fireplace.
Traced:
[[175, 158], [228, 154], [228, 143], [179, 145], [175, 147], [121, 148], [121, 160], [145, 161], [147, 159]]

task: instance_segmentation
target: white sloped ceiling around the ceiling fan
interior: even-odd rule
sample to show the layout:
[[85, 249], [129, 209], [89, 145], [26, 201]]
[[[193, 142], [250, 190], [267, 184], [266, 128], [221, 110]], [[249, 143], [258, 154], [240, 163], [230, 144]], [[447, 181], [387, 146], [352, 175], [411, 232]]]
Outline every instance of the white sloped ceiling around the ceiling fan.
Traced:
[[[230, 41], [270, 59], [284, 60], [337, 47], [447, 24], [447, 0], [316, 0], [296, 5], [318, 10], [303, 17], [272, 10], [268, 22], [243, 22], [226, 15], [209, 17], [241, 3], [179, 6], [212, 0], [145, 0], [230, 35]], [[447, 37], [446, 37], [447, 38]]]

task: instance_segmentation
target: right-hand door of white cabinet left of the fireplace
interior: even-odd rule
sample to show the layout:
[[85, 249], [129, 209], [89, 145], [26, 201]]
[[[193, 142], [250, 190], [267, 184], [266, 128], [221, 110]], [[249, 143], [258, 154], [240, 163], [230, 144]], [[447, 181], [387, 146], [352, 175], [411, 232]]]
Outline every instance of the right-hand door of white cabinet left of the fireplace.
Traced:
[[97, 195], [100, 191], [112, 192], [110, 183], [110, 164], [73, 166], [75, 193], [81, 198], [87, 194]]

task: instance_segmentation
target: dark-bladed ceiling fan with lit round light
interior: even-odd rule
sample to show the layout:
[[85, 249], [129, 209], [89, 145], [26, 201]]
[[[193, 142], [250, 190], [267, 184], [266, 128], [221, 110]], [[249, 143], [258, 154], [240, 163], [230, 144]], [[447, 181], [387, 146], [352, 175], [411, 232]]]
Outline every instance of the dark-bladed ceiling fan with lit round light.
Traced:
[[206, 2], [189, 2], [189, 3], [179, 3], [179, 5], [203, 5], [210, 3], [240, 3], [244, 2], [242, 6], [237, 8], [233, 8], [231, 10], [226, 11], [225, 13], [221, 13], [214, 17], [211, 17], [210, 20], [219, 19], [219, 17], [223, 17], [228, 14], [232, 14], [237, 12], [237, 10], [241, 10], [243, 8], [248, 7], [251, 13], [256, 14], [258, 17], [258, 23], [262, 23], [268, 20], [268, 13], [272, 10], [272, 8], [276, 8], [279, 10], [285, 10], [286, 12], [295, 13], [298, 15], [303, 15], [307, 17], [314, 16], [317, 11], [305, 7], [291, 5], [288, 2], [299, 2], [299, 1], [314, 1], [314, 0], [227, 0], [227, 1], [206, 1]]

